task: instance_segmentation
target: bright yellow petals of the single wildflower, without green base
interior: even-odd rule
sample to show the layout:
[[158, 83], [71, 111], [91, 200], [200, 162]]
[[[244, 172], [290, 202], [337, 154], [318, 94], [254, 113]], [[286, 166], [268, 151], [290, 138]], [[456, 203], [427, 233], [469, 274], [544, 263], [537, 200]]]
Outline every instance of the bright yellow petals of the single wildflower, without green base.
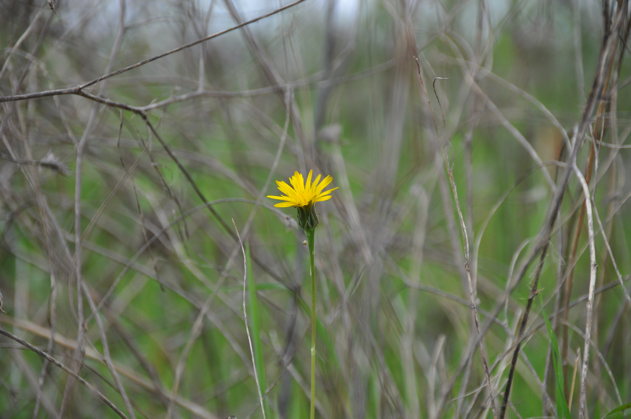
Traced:
[[320, 182], [321, 175], [317, 175], [315, 180], [311, 182], [311, 175], [313, 174], [313, 170], [309, 170], [309, 175], [307, 175], [307, 182], [304, 182], [304, 178], [302, 174], [295, 172], [292, 177], [289, 178], [290, 184], [289, 186], [285, 182], [279, 182], [276, 180], [276, 184], [278, 184], [278, 190], [283, 192], [282, 196], [272, 196], [268, 195], [268, 198], [278, 199], [280, 201], [285, 201], [278, 203], [274, 206], [278, 207], [286, 207], [286, 206], [295, 206], [295, 207], [311, 207], [313, 204], [319, 201], [326, 201], [331, 198], [331, 191], [335, 191], [338, 189], [334, 187], [333, 189], [329, 189], [328, 191], [322, 192], [322, 189], [331, 183], [333, 177], [327, 176], [322, 179]]

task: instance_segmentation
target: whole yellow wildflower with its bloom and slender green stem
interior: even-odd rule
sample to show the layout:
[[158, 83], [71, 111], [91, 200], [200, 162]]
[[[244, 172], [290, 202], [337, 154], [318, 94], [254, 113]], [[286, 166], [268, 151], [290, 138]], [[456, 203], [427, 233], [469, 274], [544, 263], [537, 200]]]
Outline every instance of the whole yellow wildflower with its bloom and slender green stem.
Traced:
[[313, 170], [309, 170], [307, 181], [304, 181], [302, 174], [294, 172], [289, 178], [289, 186], [285, 182], [279, 182], [278, 189], [285, 195], [271, 196], [268, 198], [284, 201], [274, 206], [288, 207], [294, 206], [298, 210], [298, 225], [305, 230], [307, 235], [307, 244], [309, 244], [309, 273], [311, 275], [311, 408], [310, 418], [315, 418], [315, 227], [318, 225], [318, 213], [315, 211], [315, 203], [331, 199], [332, 191], [338, 189], [334, 187], [327, 191], [322, 191], [324, 187], [331, 183], [333, 178], [327, 176], [320, 182], [321, 175], [317, 175], [313, 182], [311, 177]]

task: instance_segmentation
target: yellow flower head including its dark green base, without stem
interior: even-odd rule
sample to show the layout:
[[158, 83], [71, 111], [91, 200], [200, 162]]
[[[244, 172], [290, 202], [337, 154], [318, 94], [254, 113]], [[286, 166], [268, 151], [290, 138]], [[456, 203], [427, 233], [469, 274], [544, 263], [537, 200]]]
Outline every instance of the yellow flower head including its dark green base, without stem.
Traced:
[[292, 186], [289, 186], [285, 182], [279, 182], [276, 180], [278, 190], [283, 192], [285, 195], [268, 195], [268, 198], [285, 201], [274, 206], [295, 206], [298, 208], [298, 225], [300, 225], [300, 227], [304, 230], [313, 230], [318, 224], [318, 214], [315, 211], [315, 203], [330, 199], [331, 195], [329, 194], [331, 191], [338, 189], [337, 187], [334, 187], [333, 189], [322, 192], [322, 189], [331, 183], [333, 177], [327, 176], [322, 180], [322, 182], [320, 182], [321, 175], [317, 175], [315, 180], [311, 182], [312, 174], [313, 170], [309, 170], [307, 182], [305, 182], [302, 174], [294, 172], [293, 176], [289, 178], [289, 182]]

